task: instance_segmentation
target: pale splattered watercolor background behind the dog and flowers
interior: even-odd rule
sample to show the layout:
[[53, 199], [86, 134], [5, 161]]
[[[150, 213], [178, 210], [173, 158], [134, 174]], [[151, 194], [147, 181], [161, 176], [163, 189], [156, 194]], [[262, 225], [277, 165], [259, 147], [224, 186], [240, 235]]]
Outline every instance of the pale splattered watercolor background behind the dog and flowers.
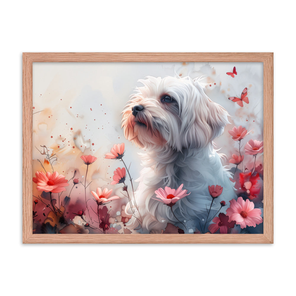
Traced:
[[[232, 72], [236, 67], [237, 75], [232, 78], [226, 72]], [[233, 153], [239, 154], [238, 143], [234, 142], [228, 130], [233, 126], [243, 126], [251, 131], [244, 144], [249, 139], [263, 140], [263, 64], [262, 63], [33, 63], [33, 176], [41, 171], [41, 165], [46, 166], [46, 158], [41, 155], [45, 145], [50, 155], [57, 160], [53, 163], [54, 171], [66, 176], [69, 180], [76, 171], [75, 178], [85, 182], [86, 165], [81, 155], [94, 155], [98, 159], [89, 166], [87, 184], [88, 190], [96, 191], [97, 187], [113, 189], [112, 194], [123, 197], [122, 184], [110, 185], [113, 171], [122, 166], [114, 160], [104, 159], [104, 154], [110, 152], [113, 144], [125, 143], [125, 161], [130, 165], [133, 180], [139, 177], [141, 170], [137, 152], [141, 150], [123, 136], [120, 129], [120, 113], [137, 82], [147, 75], [164, 77], [179, 75], [191, 78], [204, 75], [208, 83], [207, 95], [214, 102], [221, 104], [231, 115], [230, 124], [225, 127], [222, 136], [215, 139], [220, 153], [226, 155], [223, 165], [229, 165], [228, 160]], [[247, 87], [249, 104], [240, 107], [228, 99], [230, 96], [240, 97]], [[39, 149], [39, 150], [38, 150]], [[244, 166], [251, 169], [254, 160], [245, 155]], [[263, 163], [263, 155], [259, 155], [256, 163]], [[232, 168], [235, 165], [230, 164]], [[50, 167], [48, 165], [48, 170]], [[232, 170], [233, 171], [233, 170]], [[61, 194], [61, 201], [72, 188], [72, 181], [66, 192]], [[134, 182], [134, 188], [137, 183]], [[130, 187], [129, 187], [130, 188]], [[33, 195], [40, 194], [33, 184]], [[131, 194], [131, 192], [130, 192]], [[84, 188], [79, 184], [73, 188], [65, 218], [69, 223], [81, 225], [83, 221], [73, 215], [79, 210], [85, 210]], [[260, 200], [256, 207], [263, 213], [263, 186]], [[35, 198], [33, 197], [33, 200]], [[110, 209], [111, 226], [116, 226], [123, 233], [124, 223], [121, 211], [128, 202], [127, 198], [114, 200]], [[65, 201], [64, 201], [65, 203]], [[96, 206], [94, 205], [94, 208]], [[35, 207], [40, 222], [45, 220], [49, 211], [42, 203]], [[43, 214], [43, 217], [42, 217]], [[45, 216], [44, 216], [45, 215]], [[92, 213], [91, 215], [94, 215]], [[46, 220], [48, 221], [48, 220]], [[78, 223], [79, 222], [79, 223]], [[54, 226], [54, 222], [52, 223]], [[120, 225], [120, 226], [119, 226]], [[262, 227], [261, 227], [262, 228]], [[257, 228], [258, 229], [258, 228]], [[262, 231], [262, 230], [261, 230]]]

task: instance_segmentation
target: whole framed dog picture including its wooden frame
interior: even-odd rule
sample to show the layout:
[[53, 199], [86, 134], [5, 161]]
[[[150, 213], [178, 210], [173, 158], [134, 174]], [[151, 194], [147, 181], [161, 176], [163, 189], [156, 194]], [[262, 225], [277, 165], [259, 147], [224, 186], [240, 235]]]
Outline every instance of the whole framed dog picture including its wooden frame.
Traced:
[[23, 53], [23, 243], [273, 243], [273, 54]]

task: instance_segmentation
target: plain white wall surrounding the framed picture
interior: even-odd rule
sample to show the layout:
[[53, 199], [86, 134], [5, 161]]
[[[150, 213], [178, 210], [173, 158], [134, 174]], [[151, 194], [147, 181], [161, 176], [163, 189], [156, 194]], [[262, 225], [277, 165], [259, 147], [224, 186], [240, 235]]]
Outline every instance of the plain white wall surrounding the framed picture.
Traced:
[[[104, 2], [1, 4], [4, 295], [291, 295], [295, 4]], [[274, 52], [274, 244], [23, 245], [22, 52], [155, 51]]]

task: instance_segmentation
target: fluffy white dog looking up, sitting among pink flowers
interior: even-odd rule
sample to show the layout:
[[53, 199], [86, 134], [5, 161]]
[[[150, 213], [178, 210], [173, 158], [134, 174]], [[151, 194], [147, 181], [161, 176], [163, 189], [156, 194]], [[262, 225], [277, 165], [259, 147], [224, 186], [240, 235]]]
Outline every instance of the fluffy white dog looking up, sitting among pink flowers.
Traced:
[[[223, 187], [222, 194], [213, 200], [209, 219], [222, 200], [227, 204], [236, 197], [229, 180], [232, 175], [213, 148], [213, 139], [223, 133], [229, 114], [207, 97], [200, 78], [148, 76], [139, 82], [144, 86], [136, 88], [121, 121], [126, 139], [145, 151], [140, 154], [144, 168], [134, 192], [139, 212], [134, 209], [136, 218], [133, 216], [127, 226], [141, 224], [143, 233], [160, 233], [170, 222], [185, 233], [195, 228], [203, 232], [212, 202], [208, 186]], [[177, 189], [181, 184], [190, 194], [172, 209], [152, 199], [155, 190], [165, 186]], [[131, 214], [129, 204], [126, 213]]]

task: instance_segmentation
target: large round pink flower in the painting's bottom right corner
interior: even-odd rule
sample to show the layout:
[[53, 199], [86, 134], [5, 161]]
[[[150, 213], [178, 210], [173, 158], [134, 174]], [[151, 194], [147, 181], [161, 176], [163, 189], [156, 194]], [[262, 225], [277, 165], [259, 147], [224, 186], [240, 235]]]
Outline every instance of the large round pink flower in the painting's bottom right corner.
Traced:
[[261, 218], [261, 210], [254, 209], [254, 202], [250, 200], [244, 201], [242, 197], [239, 197], [237, 201], [232, 199], [230, 201], [230, 207], [226, 210], [226, 215], [229, 216], [229, 220], [235, 220], [236, 224], [239, 224], [241, 228], [246, 226], [254, 226], [263, 222]]

